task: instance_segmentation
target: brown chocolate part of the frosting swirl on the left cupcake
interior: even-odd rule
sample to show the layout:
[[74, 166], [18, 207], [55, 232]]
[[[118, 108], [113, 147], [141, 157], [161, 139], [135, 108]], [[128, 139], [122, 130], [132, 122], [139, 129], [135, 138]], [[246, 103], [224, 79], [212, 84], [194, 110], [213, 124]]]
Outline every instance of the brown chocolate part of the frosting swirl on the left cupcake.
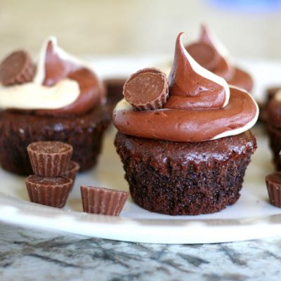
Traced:
[[55, 110], [35, 110], [37, 115], [82, 115], [103, 102], [105, 89], [96, 74], [89, 68], [60, 58], [54, 42], [48, 41], [43, 84], [53, 86], [61, 79], [73, 79], [79, 84], [80, 94], [70, 105]]

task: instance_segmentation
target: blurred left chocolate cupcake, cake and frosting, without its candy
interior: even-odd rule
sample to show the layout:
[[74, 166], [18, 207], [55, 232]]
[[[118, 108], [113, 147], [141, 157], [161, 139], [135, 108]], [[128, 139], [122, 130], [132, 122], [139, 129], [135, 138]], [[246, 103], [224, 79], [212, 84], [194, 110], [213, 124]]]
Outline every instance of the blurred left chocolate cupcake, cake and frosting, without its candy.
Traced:
[[[9, 68], [7, 60], [4, 63], [3, 71]], [[31, 81], [0, 84], [1, 166], [16, 174], [32, 174], [27, 145], [61, 141], [72, 145], [72, 159], [81, 171], [90, 169], [110, 124], [103, 83], [86, 63], [58, 47], [54, 38], [46, 40], [36, 69]]]

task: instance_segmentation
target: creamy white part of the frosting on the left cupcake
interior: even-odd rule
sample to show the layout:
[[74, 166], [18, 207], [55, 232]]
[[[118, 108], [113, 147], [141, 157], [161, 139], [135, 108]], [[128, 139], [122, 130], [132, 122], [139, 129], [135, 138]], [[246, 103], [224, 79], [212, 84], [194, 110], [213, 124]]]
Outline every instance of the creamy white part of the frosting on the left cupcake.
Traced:
[[49, 37], [41, 47], [37, 72], [30, 83], [3, 86], [0, 84], [0, 108], [22, 110], [55, 110], [73, 103], [80, 94], [79, 84], [72, 79], [62, 79], [53, 86], [42, 85], [45, 77], [45, 58], [48, 42], [52, 41], [57, 55], [77, 65], [86, 65], [58, 47], [55, 37]]

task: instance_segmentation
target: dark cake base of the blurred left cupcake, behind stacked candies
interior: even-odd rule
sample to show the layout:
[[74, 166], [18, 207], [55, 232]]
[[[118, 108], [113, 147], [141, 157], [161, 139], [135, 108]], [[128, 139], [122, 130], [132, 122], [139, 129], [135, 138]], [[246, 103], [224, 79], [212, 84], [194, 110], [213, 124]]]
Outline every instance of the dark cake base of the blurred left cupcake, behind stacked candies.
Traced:
[[33, 174], [27, 145], [34, 141], [62, 141], [73, 147], [72, 159], [81, 171], [97, 162], [103, 133], [110, 124], [110, 108], [98, 107], [79, 117], [49, 117], [0, 112], [0, 164], [15, 174]]

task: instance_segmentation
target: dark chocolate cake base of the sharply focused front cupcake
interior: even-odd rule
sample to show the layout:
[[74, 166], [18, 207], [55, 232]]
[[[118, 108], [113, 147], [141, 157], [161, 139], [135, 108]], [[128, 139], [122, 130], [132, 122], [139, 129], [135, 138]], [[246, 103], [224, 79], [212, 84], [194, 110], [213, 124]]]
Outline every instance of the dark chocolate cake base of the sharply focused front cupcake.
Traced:
[[250, 131], [202, 143], [136, 138], [117, 133], [131, 197], [161, 214], [210, 214], [234, 204], [256, 139]]

